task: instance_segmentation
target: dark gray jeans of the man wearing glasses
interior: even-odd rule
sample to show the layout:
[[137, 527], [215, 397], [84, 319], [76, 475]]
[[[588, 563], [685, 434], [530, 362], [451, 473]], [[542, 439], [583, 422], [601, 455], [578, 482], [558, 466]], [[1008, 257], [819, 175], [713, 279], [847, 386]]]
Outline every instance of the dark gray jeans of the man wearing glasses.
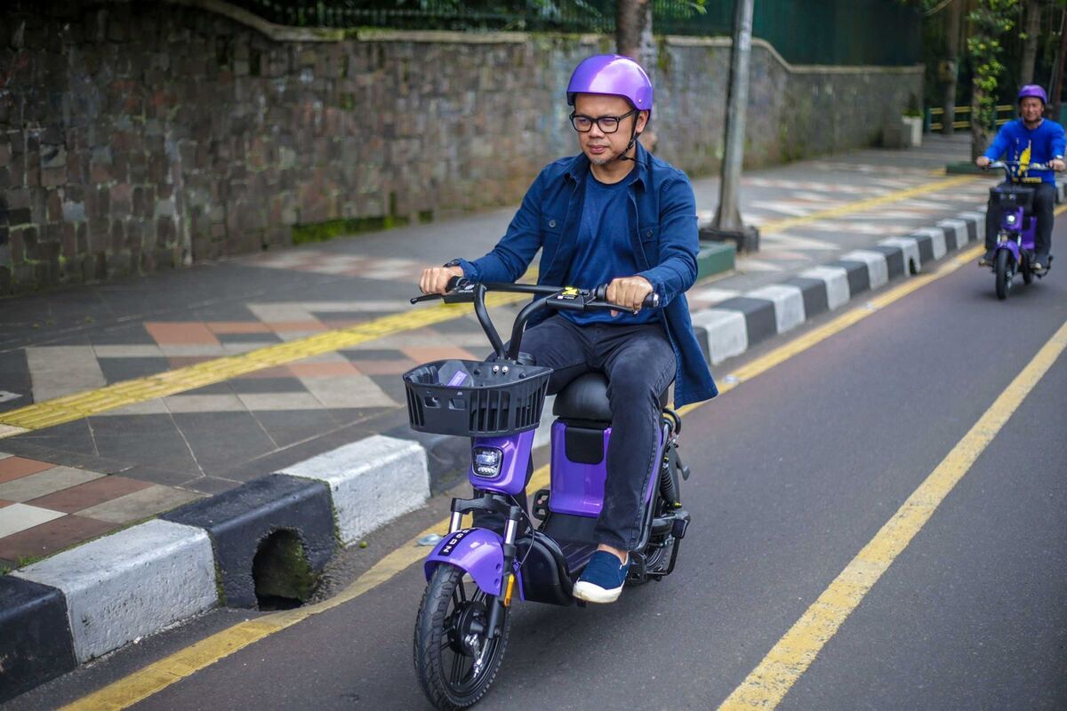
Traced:
[[674, 351], [659, 323], [578, 326], [554, 316], [523, 336], [522, 351], [553, 368], [548, 393], [589, 371], [607, 375], [611, 440], [596, 542], [632, 550], [659, 445], [659, 394], [674, 379]]

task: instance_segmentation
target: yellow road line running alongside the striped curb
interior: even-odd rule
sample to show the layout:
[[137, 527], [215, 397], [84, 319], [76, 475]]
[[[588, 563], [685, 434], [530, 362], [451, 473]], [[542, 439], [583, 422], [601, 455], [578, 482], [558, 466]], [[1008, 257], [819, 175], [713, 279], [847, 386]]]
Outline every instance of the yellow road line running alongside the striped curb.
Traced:
[[[899, 287], [891, 289], [876, 300], [873, 300], [873, 303], [877, 307], [881, 307], [903, 298], [915, 289], [953, 273], [961, 264], [970, 261], [977, 254], [977, 251], [978, 248], [975, 247], [970, 252], [962, 253], [956, 259], [943, 264], [937, 272], [915, 277]], [[736, 379], [731, 378], [731, 382], [722, 384], [721, 392], [729, 392], [739, 383], [770, 370], [787, 358], [812, 348], [816, 343], [826, 340], [833, 334], [844, 330], [872, 313], [874, 313], [874, 310], [866, 306], [860, 306], [846, 311], [832, 322], [797, 339], [796, 342], [800, 343], [800, 345], [790, 342], [752, 360], [736, 371], [738, 373], [735, 376]], [[686, 415], [698, 406], [699, 404], [687, 405], [679, 410], [679, 413]], [[548, 467], [544, 466], [534, 472], [527, 490], [532, 494], [547, 485]], [[306, 608], [273, 613], [235, 625], [165, 659], [155, 662], [139, 672], [134, 672], [128, 677], [112, 682], [103, 689], [64, 707], [64, 709], [70, 711], [89, 711], [91, 709], [118, 710], [132, 706], [141, 699], [162, 691], [174, 682], [214, 664], [258, 640], [291, 627], [312, 615], [332, 610], [392, 580], [412, 564], [424, 560], [428, 554], [429, 551], [426, 548], [417, 545], [416, 542], [418, 538], [430, 533], [443, 534], [447, 530], [447, 518], [437, 521], [392, 553], [385, 555], [336, 597]]]

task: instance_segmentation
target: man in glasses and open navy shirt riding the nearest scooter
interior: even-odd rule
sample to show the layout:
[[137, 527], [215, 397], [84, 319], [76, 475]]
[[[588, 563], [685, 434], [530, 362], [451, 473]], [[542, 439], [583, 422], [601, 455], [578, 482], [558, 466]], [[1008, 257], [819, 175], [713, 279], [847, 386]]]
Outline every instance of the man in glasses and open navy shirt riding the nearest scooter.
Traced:
[[[683, 295], [697, 278], [692, 188], [682, 171], [638, 143], [652, 113], [648, 75], [626, 56], [591, 56], [574, 70], [567, 101], [582, 152], [541, 171], [492, 252], [428, 269], [419, 288], [443, 294], [457, 276], [515, 281], [538, 249], [539, 284], [609, 285], [607, 301], [619, 311], [540, 314], [530, 320], [522, 345], [539, 366], [554, 369], [550, 392], [589, 371], [608, 378], [615, 435], [595, 530], [599, 548], [574, 596], [614, 602], [626, 580], [628, 551], [638, 545], [660, 397], [672, 381], [676, 406], [714, 398], [717, 389]], [[650, 294], [663, 308], [641, 310]]]

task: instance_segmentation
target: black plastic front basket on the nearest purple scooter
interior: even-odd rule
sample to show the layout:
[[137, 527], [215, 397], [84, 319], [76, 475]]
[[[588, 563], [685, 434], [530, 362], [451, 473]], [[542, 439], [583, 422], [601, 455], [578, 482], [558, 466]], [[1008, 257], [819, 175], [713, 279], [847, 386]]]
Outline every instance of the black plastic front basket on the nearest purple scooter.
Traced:
[[541, 421], [551, 368], [480, 360], [435, 360], [403, 374], [413, 430], [492, 437]]

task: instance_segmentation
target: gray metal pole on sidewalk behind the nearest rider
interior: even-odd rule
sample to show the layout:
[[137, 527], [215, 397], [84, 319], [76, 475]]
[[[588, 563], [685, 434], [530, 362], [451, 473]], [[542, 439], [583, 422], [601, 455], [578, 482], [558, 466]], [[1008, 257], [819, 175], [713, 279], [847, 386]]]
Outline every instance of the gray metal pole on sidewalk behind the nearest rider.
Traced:
[[712, 229], [732, 232], [740, 249], [755, 248], [746, 239], [744, 222], [737, 209], [740, 169], [745, 157], [745, 113], [748, 109], [748, 65], [752, 53], [752, 7], [754, 0], [736, 0], [734, 6], [733, 46], [730, 50], [730, 88], [727, 95], [726, 150], [722, 157], [722, 180], [719, 184], [719, 207]]

